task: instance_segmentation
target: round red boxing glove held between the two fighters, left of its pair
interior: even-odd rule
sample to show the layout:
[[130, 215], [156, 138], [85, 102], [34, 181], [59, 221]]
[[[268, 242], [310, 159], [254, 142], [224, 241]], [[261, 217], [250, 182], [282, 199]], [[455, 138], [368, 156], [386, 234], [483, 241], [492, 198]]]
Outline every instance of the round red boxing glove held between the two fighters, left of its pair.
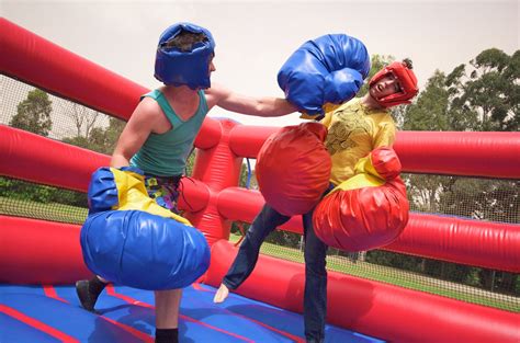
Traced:
[[331, 160], [319, 123], [287, 126], [271, 135], [257, 157], [260, 192], [285, 216], [302, 215], [319, 202], [329, 185]]

